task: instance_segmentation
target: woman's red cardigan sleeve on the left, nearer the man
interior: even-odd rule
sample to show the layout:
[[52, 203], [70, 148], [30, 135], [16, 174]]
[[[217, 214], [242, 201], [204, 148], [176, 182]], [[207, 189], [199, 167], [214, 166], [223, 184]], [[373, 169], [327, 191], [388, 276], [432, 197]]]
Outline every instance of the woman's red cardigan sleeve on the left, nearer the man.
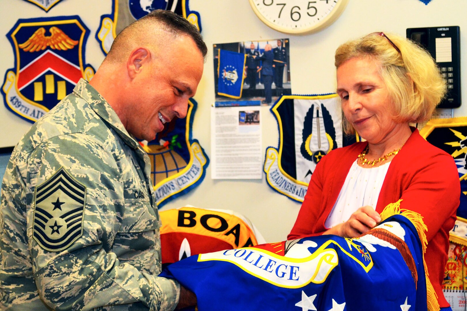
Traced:
[[318, 218], [321, 216], [321, 198], [323, 194], [323, 182], [325, 173], [325, 161], [327, 157], [321, 158], [311, 175], [310, 183], [306, 191], [302, 207], [298, 212], [297, 220], [287, 236], [287, 240], [293, 240], [304, 236], [319, 235], [313, 232]]

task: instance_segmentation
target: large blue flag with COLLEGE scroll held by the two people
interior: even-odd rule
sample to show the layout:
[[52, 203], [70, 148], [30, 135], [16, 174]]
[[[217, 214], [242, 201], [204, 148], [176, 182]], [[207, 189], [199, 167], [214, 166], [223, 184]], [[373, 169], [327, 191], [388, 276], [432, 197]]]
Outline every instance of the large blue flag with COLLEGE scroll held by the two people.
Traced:
[[199, 311], [427, 310], [423, 248], [396, 214], [354, 239], [320, 235], [191, 256], [161, 276], [198, 298]]

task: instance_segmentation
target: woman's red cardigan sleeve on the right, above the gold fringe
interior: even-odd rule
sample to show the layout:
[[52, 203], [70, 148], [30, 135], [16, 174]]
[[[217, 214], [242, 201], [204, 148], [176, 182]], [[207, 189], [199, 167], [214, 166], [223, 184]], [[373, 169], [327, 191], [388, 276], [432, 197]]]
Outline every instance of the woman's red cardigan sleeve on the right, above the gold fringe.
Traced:
[[424, 166], [405, 182], [408, 185], [402, 192], [401, 208], [423, 216], [428, 228], [428, 242], [443, 226], [449, 227], [444, 228], [446, 232], [449, 231], [454, 226], [454, 220], [448, 220], [455, 215], [460, 200], [459, 174], [453, 158], [439, 153], [425, 161]]

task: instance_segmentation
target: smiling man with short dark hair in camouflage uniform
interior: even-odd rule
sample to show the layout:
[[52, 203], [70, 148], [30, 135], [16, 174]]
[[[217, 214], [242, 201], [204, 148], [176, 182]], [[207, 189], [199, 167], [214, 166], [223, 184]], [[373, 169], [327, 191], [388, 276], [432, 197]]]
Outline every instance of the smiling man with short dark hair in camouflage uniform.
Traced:
[[[18, 143], [2, 184], [0, 310], [173, 310], [194, 294], [161, 271], [152, 140], [185, 117], [203, 72], [196, 28], [155, 11], [115, 39], [90, 83]], [[178, 304], [178, 306], [177, 306]]]

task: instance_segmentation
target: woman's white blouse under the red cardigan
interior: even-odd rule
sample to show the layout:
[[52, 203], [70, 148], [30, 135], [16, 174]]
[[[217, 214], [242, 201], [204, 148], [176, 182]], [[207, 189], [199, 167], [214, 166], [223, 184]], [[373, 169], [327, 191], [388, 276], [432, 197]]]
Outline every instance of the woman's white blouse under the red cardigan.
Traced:
[[369, 205], [376, 209], [390, 161], [381, 166], [367, 168], [358, 166], [357, 160], [350, 167], [337, 201], [325, 221], [326, 228], [333, 228], [347, 221], [362, 206]]

